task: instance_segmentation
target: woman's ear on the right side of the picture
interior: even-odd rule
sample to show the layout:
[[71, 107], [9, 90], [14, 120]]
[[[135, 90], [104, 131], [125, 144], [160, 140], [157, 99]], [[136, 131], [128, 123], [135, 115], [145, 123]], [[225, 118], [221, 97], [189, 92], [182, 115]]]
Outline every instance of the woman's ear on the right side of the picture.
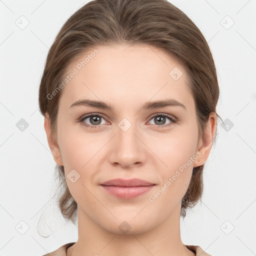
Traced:
[[200, 151], [201, 154], [196, 160], [194, 160], [193, 167], [200, 166], [207, 160], [216, 132], [216, 121], [216, 113], [211, 112], [209, 114], [208, 122], [204, 128], [203, 138], [200, 138], [198, 143], [197, 151]]

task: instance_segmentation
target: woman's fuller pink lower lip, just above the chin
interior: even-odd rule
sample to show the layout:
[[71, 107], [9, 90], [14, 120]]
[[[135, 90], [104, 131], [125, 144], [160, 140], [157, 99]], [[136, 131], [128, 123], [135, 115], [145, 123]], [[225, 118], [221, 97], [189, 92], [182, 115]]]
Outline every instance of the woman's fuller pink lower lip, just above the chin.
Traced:
[[105, 186], [101, 185], [106, 191], [119, 198], [123, 199], [131, 199], [137, 197], [145, 192], [148, 192], [154, 185], [150, 186], [130, 186], [130, 187], [122, 187], [122, 186]]

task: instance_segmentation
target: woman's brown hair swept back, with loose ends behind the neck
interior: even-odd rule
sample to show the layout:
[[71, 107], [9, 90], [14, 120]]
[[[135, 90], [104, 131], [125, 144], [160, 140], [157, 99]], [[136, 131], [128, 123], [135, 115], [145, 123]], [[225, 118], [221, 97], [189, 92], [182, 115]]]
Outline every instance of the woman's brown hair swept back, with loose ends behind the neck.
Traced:
[[[92, 47], [112, 43], [147, 44], [164, 50], [186, 68], [195, 101], [199, 137], [211, 112], [216, 113], [219, 87], [209, 46], [198, 27], [180, 9], [166, 0], [92, 0], [75, 11], [63, 24], [52, 43], [39, 86], [39, 109], [50, 119], [56, 133], [56, 117], [61, 90], [54, 91], [66, 75], [69, 64]], [[216, 113], [216, 116], [220, 116]], [[221, 118], [220, 118], [221, 119]], [[215, 142], [216, 133], [213, 139]], [[193, 167], [189, 186], [181, 201], [180, 215], [202, 196], [203, 167]], [[58, 208], [73, 223], [77, 203], [66, 184], [64, 166], [56, 165], [59, 177]]]

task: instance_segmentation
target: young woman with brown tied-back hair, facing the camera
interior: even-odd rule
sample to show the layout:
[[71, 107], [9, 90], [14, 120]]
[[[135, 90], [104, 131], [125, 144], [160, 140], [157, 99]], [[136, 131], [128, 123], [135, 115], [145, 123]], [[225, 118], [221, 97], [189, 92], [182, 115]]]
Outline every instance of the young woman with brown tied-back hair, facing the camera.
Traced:
[[94, 0], [65, 22], [39, 88], [78, 240], [46, 255], [209, 255], [180, 216], [202, 195], [219, 95], [211, 52], [165, 0]]

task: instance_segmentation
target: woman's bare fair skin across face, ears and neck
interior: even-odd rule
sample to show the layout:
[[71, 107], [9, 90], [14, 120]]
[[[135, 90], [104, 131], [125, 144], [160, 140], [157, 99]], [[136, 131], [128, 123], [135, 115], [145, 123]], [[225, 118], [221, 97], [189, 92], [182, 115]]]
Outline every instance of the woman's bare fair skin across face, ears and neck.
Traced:
[[[161, 49], [145, 44], [96, 48], [99, 50], [96, 56], [62, 88], [57, 133], [53, 136], [49, 119], [44, 116], [44, 128], [55, 162], [64, 166], [65, 175], [72, 169], [80, 175], [74, 183], [66, 177], [78, 205], [78, 240], [68, 248], [67, 255], [194, 255], [180, 237], [181, 199], [193, 167], [202, 165], [210, 153], [216, 114], [210, 113], [204, 137], [199, 138], [185, 67]], [[80, 54], [69, 65], [67, 74], [89, 52]], [[173, 67], [183, 73], [176, 81], [169, 75]], [[165, 106], [140, 110], [143, 103], [166, 97], [176, 99], [186, 109]], [[101, 100], [115, 109], [70, 107], [84, 98]], [[77, 121], [89, 113], [104, 116], [99, 128], [85, 127]], [[160, 125], [154, 117], [161, 113], [175, 116], [177, 122], [167, 126], [171, 120], [166, 117]], [[123, 118], [131, 123], [127, 131], [118, 126]], [[97, 124], [89, 118], [83, 122]], [[150, 202], [148, 197], [197, 151], [200, 156]], [[117, 177], [137, 177], [156, 185], [138, 197], [117, 198], [99, 185]], [[126, 234], [118, 228], [123, 221], [130, 226]]]

